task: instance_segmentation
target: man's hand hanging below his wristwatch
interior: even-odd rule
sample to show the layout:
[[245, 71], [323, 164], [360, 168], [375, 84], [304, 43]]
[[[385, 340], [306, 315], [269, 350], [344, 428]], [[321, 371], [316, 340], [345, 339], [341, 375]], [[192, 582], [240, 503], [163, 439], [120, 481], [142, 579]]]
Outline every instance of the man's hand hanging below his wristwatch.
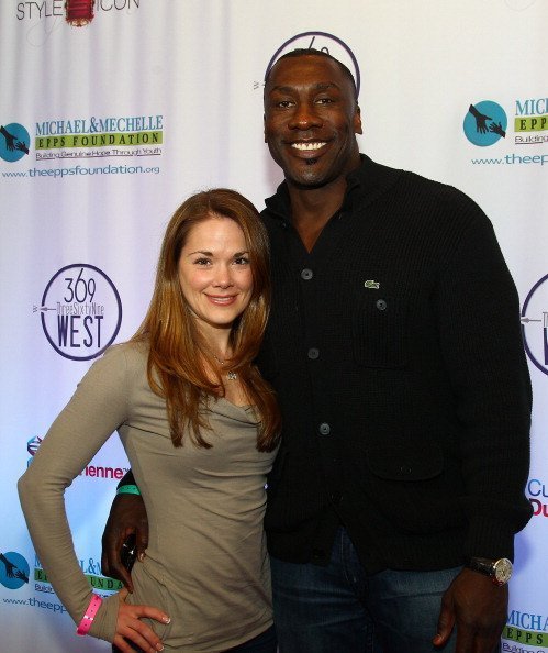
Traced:
[[455, 653], [493, 653], [501, 641], [508, 608], [508, 586], [496, 586], [479, 572], [463, 568], [441, 599], [435, 646], [457, 627]]

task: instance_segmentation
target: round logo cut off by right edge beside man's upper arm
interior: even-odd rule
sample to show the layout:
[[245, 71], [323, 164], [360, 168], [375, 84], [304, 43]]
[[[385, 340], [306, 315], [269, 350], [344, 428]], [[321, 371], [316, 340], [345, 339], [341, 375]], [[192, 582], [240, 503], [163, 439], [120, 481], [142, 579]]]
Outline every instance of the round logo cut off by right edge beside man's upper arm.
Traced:
[[533, 286], [524, 301], [522, 333], [530, 362], [548, 375], [548, 275]]

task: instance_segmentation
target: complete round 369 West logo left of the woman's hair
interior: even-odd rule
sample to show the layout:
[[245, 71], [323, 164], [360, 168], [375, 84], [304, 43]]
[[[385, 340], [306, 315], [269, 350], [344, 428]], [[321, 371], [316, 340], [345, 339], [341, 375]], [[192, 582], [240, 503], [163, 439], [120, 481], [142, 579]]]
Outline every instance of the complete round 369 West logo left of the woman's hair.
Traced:
[[94, 265], [67, 265], [47, 283], [40, 313], [47, 342], [65, 358], [90, 361], [114, 342], [122, 301], [111, 279]]

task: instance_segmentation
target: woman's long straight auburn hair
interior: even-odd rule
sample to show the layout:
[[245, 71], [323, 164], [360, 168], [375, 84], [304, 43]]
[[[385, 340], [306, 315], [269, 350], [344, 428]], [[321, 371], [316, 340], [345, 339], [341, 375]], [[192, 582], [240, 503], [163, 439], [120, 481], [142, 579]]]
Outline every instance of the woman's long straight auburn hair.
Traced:
[[209, 429], [204, 399], [223, 396], [224, 386], [219, 373], [212, 381], [204, 366], [208, 361], [211, 369], [216, 369], [182, 294], [179, 258], [190, 230], [212, 217], [234, 220], [244, 232], [249, 252], [253, 292], [231, 330], [231, 369], [237, 373], [249, 402], [260, 416], [257, 449], [272, 451], [280, 433], [280, 412], [272, 389], [254, 364], [270, 308], [269, 245], [266, 229], [249, 200], [235, 190], [216, 188], [190, 197], [177, 209], [161, 244], [150, 306], [131, 342], [146, 342], [149, 346], [148, 383], [154, 392], [166, 399], [174, 445], [182, 445], [188, 429], [195, 445], [211, 447], [203, 436]]

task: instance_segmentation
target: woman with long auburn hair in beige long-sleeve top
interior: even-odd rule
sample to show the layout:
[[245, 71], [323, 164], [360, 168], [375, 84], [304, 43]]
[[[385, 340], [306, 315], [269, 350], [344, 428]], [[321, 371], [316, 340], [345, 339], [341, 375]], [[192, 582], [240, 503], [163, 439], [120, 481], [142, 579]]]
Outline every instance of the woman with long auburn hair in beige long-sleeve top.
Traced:
[[[143, 324], [90, 368], [19, 482], [38, 557], [80, 634], [123, 653], [276, 651], [262, 517], [280, 418], [253, 364], [269, 299], [255, 207], [225, 189], [188, 199], [168, 224]], [[101, 602], [63, 494], [114, 430], [149, 542], [134, 594]]]

